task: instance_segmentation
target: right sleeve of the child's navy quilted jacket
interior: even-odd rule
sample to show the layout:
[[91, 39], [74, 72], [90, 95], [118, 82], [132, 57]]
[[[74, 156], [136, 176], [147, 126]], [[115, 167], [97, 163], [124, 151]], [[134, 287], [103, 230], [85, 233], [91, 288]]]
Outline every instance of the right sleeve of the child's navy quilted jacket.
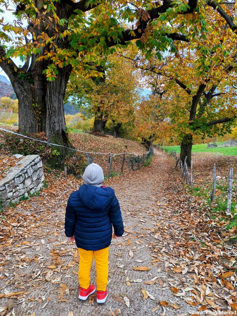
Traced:
[[109, 211], [109, 218], [114, 228], [114, 234], [118, 237], [122, 236], [124, 233], [124, 224], [119, 201], [115, 195], [113, 197], [112, 205]]

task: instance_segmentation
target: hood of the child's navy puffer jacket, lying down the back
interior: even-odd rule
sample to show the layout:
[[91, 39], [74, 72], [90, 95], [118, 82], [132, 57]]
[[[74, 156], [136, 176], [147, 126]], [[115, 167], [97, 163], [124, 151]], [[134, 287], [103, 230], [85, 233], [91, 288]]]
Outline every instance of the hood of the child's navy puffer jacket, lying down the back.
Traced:
[[114, 192], [110, 187], [101, 188], [94, 185], [83, 184], [78, 194], [82, 204], [90, 210], [103, 210], [112, 203]]

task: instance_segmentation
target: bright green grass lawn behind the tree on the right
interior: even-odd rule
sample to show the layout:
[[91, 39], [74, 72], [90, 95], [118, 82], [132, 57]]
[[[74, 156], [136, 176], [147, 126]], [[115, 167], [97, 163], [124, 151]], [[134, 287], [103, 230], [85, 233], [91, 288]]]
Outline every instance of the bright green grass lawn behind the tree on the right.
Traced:
[[[220, 145], [218, 142], [217, 145]], [[180, 146], [163, 146], [170, 152], [172, 149], [177, 153], [180, 153]], [[237, 156], [237, 146], [236, 147], [214, 147], [207, 148], [207, 144], [192, 145], [192, 153], [200, 152], [213, 152], [214, 155], [226, 155], [226, 156]]]

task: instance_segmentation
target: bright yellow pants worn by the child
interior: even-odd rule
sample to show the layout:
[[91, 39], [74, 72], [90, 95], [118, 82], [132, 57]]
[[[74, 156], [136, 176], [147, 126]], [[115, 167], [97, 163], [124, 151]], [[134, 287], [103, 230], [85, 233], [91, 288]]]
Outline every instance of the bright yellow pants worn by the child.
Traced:
[[80, 287], [87, 289], [90, 285], [91, 264], [95, 261], [97, 291], [105, 291], [109, 274], [109, 247], [93, 251], [78, 248], [80, 257], [78, 278]]

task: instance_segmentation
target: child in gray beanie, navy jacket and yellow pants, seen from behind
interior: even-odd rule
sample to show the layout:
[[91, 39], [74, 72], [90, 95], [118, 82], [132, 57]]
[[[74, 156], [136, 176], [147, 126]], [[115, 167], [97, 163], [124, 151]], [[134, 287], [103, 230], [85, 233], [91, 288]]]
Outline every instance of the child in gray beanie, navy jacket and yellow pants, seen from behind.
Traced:
[[90, 285], [90, 269], [95, 260], [97, 303], [104, 303], [108, 296], [108, 256], [112, 239], [124, 233], [119, 202], [112, 188], [102, 185], [104, 173], [96, 163], [90, 164], [82, 177], [83, 184], [74, 191], [67, 203], [65, 215], [65, 234], [75, 241], [79, 262], [79, 299], [85, 301], [95, 292]]

